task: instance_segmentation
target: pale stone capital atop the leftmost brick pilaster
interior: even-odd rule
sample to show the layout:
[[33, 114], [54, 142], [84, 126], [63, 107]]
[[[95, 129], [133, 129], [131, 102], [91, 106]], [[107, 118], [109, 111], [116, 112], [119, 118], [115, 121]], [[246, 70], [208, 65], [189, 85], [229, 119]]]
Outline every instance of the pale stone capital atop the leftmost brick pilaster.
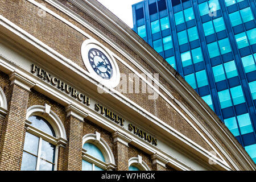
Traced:
[[30, 89], [36, 84], [36, 81], [32, 78], [25, 77], [22, 73], [16, 71], [9, 75], [9, 80], [11, 81], [10, 85], [16, 84], [28, 92], [30, 92]]

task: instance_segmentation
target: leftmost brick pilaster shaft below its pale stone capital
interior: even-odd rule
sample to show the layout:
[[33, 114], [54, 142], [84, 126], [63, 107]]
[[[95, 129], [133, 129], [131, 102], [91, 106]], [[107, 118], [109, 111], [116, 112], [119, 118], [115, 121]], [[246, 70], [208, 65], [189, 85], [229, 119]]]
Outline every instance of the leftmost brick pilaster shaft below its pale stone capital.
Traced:
[[0, 140], [0, 170], [20, 170], [25, 137], [28, 89], [11, 84], [8, 112]]

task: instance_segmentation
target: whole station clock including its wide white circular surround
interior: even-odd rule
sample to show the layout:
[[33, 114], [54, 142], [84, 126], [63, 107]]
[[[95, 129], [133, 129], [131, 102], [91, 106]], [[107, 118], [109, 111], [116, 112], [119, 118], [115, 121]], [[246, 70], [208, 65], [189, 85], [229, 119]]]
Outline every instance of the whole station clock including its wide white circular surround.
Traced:
[[81, 55], [86, 69], [95, 80], [112, 88], [119, 84], [119, 68], [108, 48], [94, 40], [85, 40]]

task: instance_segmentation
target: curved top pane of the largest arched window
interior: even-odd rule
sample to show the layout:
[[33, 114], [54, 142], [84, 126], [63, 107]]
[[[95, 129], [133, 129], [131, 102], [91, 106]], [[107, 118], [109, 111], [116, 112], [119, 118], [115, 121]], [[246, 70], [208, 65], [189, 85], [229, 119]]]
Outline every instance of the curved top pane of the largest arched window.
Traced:
[[28, 118], [28, 121], [32, 122], [31, 126], [34, 126], [37, 129], [55, 137], [55, 132], [46, 119], [37, 115], [32, 115]]

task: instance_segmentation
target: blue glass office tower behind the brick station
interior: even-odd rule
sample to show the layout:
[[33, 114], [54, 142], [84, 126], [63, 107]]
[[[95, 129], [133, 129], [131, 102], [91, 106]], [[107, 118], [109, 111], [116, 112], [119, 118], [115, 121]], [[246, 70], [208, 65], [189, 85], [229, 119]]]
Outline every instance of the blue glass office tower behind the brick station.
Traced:
[[180, 73], [256, 162], [256, 1], [144, 0], [133, 30]]

